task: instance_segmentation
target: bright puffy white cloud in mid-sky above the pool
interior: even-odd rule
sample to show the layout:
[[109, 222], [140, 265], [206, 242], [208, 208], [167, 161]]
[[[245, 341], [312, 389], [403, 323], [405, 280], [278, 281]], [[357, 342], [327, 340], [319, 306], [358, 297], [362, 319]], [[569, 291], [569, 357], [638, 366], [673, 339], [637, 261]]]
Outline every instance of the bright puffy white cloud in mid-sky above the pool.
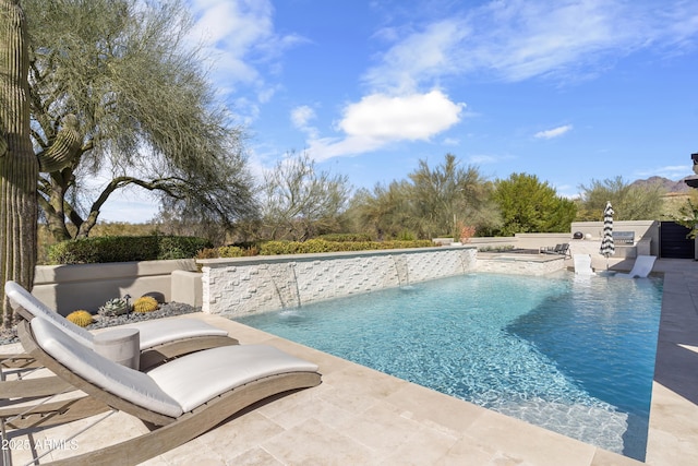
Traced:
[[440, 91], [390, 96], [371, 94], [349, 104], [337, 129], [341, 138], [312, 139], [309, 153], [318, 160], [358, 155], [399, 141], [428, 141], [460, 121], [465, 104]]

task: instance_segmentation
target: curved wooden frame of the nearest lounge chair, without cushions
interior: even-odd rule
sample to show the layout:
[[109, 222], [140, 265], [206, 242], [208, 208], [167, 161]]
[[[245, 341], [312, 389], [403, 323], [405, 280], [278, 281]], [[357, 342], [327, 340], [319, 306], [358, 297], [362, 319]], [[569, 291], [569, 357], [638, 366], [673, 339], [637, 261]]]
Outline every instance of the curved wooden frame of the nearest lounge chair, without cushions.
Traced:
[[135, 465], [195, 439], [255, 403], [321, 383], [317, 372], [270, 375], [237, 386], [192, 411], [172, 418], [127, 402], [73, 373], [37, 344], [28, 321], [20, 323], [17, 333], [27, 353], [58, 377], [87, 393], [96, 402], [135, 416], [153, 429], [141, 437], [51, 463], [55, 465]]

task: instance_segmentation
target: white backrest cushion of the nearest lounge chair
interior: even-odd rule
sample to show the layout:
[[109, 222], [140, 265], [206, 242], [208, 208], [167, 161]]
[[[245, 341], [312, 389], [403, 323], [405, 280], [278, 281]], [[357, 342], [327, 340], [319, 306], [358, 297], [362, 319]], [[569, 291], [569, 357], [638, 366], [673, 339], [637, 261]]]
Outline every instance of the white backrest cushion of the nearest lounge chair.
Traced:
[[46, 353], [92, 384], [145, 409], [173, 418], [182, 415], [179, 403], [147, 374], [108, 360], [45, 319], [32, 319], [32, 332]]

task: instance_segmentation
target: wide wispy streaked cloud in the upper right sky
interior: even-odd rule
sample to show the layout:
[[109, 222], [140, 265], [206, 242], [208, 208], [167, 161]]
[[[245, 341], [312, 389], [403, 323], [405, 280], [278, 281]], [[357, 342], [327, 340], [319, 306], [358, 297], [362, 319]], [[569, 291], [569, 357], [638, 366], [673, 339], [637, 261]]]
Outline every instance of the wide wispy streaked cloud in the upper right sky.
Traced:
[[510, 82], [587, 77], [635, 50], [681, 52], [694, 45], [698, 2], [492, 1], [418, 27], [376, 35], [392, 46], [364, 75], [371, 88], [411, 91], [467, 74]]

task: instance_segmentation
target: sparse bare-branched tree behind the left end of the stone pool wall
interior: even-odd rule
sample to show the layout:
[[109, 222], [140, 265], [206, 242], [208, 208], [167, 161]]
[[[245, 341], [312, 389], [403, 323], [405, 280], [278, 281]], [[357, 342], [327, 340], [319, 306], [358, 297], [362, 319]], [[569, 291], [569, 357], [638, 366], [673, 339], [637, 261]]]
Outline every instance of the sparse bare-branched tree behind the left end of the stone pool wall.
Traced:
[[306, 153], [288, 154], [264, 174], [263, 236], [302, 241], [340, 231], [350, 191], [348, 177], [318, 171]]

